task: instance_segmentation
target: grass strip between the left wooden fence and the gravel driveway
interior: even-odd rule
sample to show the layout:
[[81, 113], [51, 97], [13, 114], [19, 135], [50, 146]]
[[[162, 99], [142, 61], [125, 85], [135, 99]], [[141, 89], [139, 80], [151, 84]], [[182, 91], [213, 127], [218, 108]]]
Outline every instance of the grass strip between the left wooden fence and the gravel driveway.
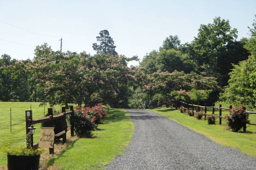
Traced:
[[121, 155], [132, 138], [134, 125], [124, 109], [110, 109], [109, 116], [92, 139], [81, 138], [54, 158], [54, 165], [62, 170], [104, 169]]

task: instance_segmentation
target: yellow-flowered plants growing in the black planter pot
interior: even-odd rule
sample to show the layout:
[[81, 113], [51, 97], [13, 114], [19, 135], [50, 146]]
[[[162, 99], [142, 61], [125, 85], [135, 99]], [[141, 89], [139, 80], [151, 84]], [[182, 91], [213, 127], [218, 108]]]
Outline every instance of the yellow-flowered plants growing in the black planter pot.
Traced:
[[38, 149], [32, 149], [27, 148], [26, 146], [20, 146], [20, 147], [10, 147], [10, 144], [6, 147], [1, 147], [3, 152], [8, 155], [16, 155], [16, 156], [34, 156], [41, 154], [44, 149], [38, 148]]

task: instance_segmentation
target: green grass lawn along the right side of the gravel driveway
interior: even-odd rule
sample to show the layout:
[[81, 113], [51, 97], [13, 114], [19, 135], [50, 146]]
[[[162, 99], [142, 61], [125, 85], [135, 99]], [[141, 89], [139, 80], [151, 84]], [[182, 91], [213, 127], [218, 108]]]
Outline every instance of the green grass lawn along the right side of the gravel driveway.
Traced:
[[[238, 149], [244, 154], [256, 157], [256, 126], [248, 125], [247, 133], [235, 133], [227, 130], [226, 121], [223, 119], [222, 125], [218, 124], [219, 119], [217, 119], [216, 125], [208, 125], [207, 121], [198, 120], [172, 108], [152, 109], [152, 111], [203, 134], [215, 143]], [[210, 110], [207, 113], [210, 113]], [[218, 115], [218, 111], [215, 113]], [[228, 112], [225, 111], [224, 114], [226, 113]], [[250, 119], [256, 123], [255, 115], [250, 115]]]

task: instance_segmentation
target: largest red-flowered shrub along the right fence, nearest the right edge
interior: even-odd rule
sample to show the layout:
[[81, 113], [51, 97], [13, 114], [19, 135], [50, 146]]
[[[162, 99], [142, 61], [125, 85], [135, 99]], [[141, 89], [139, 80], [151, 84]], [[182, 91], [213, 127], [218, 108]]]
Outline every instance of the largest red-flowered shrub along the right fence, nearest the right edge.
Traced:
[[230, 127], [232, 131], [238, 132], [245, 123], [250, 122], [248, 116], [249, 114], [245, 113], [242, 105], [238, 107], [233, 107], [229, 111], [229, 114], [226, 115], [228, 127]]

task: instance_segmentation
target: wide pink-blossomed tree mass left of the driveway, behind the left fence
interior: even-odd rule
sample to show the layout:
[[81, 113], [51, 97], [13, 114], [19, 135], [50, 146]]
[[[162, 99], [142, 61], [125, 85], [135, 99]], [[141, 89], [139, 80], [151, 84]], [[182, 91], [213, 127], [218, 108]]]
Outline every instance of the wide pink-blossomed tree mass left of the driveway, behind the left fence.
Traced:
[[42, 100], [51, 105], [77, 103], [81, 106], [84, 103], [93, 106], [104, 102], [112, 107], [128, 107], [132, 81], [127, 66], [130, 59], [122, 55], [91, 56], [70, 51], [45, 55], [48, 56], [37, 57], [30, 65], [32, 81], [43, 94]]

